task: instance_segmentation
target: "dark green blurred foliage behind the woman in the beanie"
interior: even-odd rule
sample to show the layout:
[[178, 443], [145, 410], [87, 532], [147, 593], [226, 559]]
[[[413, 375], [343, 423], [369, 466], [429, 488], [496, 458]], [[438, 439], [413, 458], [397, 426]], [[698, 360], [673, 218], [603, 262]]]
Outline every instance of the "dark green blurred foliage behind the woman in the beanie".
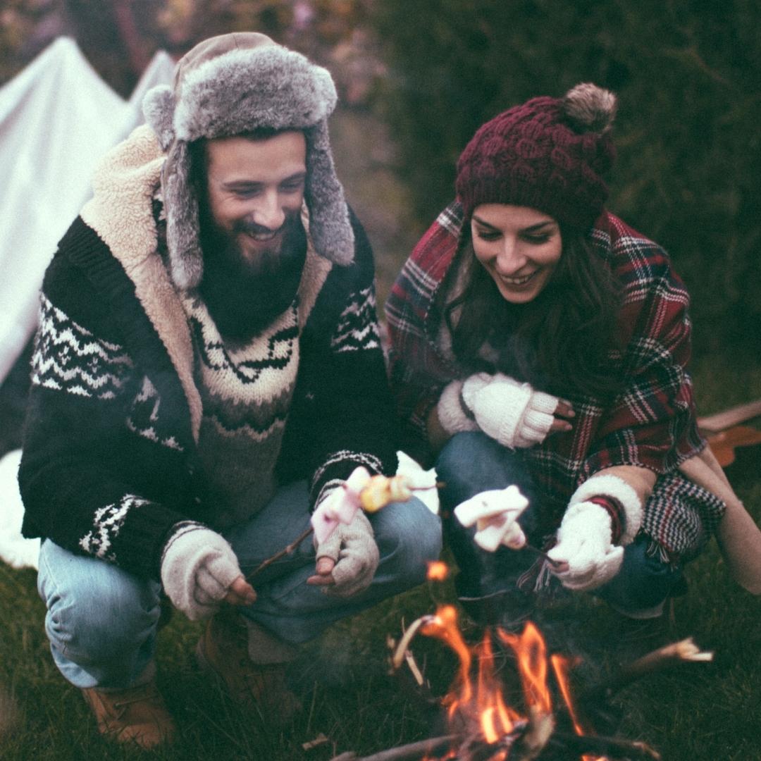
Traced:
[[619, 96], [609, 208], [663, 245], [702, 349], [761, 346], [761, 5], [756, 0], [378, 0], [377, 103], [429, 223], [477, 127], [594, 81]]

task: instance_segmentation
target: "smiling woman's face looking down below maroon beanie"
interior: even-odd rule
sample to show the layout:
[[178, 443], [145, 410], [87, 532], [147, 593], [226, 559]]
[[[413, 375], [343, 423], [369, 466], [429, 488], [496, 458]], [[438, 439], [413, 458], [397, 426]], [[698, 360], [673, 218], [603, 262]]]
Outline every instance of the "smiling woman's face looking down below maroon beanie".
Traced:
[[476, 259], [505, 301], [527, 304], [549, 282], [562, 253], [559, 224], [527, 206], [484, 203], [470, 220]]

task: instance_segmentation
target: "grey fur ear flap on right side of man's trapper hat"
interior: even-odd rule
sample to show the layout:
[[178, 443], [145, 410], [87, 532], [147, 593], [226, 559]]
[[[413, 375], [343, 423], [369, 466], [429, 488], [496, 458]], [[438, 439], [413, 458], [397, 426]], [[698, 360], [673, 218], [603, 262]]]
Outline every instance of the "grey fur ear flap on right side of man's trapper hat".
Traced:
[[354, 261], [354, 231], [343, 187], [336, 177], [326, 119], [304, 130], [307, 138], [309, 232], [314, 250], [336, 264]]

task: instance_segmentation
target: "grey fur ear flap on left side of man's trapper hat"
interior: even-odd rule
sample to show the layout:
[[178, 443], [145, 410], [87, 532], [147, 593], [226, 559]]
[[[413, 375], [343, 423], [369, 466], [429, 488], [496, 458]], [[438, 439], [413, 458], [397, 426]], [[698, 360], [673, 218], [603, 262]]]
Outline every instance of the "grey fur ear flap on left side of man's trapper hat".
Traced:
[[175, 285], [196, 288], [203, 275], [198, 199], [190, 184], [190, 152], [183, 140], [170, 148], [161, 177], [167, 214], [167, 250]]

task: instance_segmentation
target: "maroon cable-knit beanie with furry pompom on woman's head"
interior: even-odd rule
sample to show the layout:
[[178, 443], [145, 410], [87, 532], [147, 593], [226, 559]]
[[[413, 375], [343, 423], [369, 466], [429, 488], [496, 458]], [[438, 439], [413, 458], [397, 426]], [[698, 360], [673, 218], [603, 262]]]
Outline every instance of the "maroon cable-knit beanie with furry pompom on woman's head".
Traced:
[[535, 97], [495, 116], [457, 161], [465, 219], [479, 204], [508, 203], [586, 231], [608, 196], [615, 112], [613, 93], [577, 84], [565, 97]]

